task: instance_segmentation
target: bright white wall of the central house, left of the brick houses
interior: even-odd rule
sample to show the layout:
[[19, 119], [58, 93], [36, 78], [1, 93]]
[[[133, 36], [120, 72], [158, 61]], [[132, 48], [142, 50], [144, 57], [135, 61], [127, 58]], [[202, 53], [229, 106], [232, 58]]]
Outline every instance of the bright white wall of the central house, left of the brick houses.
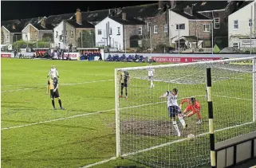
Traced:
[[[112, 35], [108, 37], [108, 45], [111, 45], [112, 48], [116, 49], [124, 49], [124, 31], [123, 25], [120, 23], [113, 21], [111, 18], [104, 18], [103, 21], [100, 21], [97, 25], [95, 25], [95, 41], [96, 46], [106, 46], [107, 40], [107, 27], [106, 24], [109, 21], [109, 29], [112, 29]], [[120, 27], [120, 33], [118, 34], [118, 27]], [[101, 35], [98, 34], [98, 29], [101, 29]], [[111, 39], [111, 40], [110, 40]], [[110, 42], [109, 42], [110, 41]]]

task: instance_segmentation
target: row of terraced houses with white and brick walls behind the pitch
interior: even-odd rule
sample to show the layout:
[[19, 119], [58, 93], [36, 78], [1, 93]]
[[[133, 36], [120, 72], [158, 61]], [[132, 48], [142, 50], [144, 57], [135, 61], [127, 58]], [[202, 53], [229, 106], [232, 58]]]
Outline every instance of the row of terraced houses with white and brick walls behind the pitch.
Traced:
[[187, 50], [215, 44], [224, 48], [250, 38], [250, 32], [256, 37], [255, 16], [255, 1], [159, 1], [108, 10], [78, 9], [73, 14], [2, 21], [1, 44], [51, 37], [58, 49], [88, 44], [120, 51], [178, 44]]

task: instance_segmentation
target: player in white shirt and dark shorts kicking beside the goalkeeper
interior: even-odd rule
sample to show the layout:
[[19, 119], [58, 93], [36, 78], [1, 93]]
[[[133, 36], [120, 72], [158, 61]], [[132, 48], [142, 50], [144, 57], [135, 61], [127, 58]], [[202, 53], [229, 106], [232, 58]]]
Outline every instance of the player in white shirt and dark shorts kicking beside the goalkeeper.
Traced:
[[167, 98], [167, 108], [169, 112], [169, 116], [172, 120], [173, 127], [175, 127], [175, 130], [177, 131], [178, 136], [180, 136], [179, 127], [176, 123], [176, 116], [179, 118], [179, 122], [183, 125], [183, 129], [187, 127], [187, 124], [185, 123], [185, 120], [183, 119], [183, 116], [181, 114], [181, 111], [179, 109], [179, 104], [177, 103], [177, 96], [178, 96], [178, 89], [173, 88], [171, 92], [167, 91], [163, 93], [161, 98]]

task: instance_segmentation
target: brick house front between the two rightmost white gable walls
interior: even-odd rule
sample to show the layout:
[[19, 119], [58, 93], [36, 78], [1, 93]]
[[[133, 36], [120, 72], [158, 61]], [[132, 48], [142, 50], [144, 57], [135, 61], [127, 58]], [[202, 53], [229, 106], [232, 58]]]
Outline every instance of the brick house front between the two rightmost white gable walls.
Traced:
[[[189, 21], [189, 35], [201, 39], [211, 39], [211, 21]], [[204, 24], [210, 24], [209, 32], [203, 30]]]

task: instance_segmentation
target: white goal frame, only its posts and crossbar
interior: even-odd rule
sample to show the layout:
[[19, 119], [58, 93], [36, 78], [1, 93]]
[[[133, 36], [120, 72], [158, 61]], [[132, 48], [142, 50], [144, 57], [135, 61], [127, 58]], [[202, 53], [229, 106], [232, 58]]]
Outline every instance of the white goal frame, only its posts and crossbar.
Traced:
[[[156, 149], [157, 147], [152, 147], [151, 149], [145, 149], [145, 150], [140, 150], [137, 152], [133, 152], [130, 154], [121, 154], [121, 144], [120, 144], [120, 100], [119, 100], [119, 91], [120, 91], [120, 84], [119, 84], [119, 76], [118, 76], [118, 72], [120, 71], [128, 71], [128, 70], [145, 70], [148, 68], [171, 68], [171, 67], [176, 67], [176, 66], [187, 66], [187, 65], [196, 65], [196, 64], [211, 64], [211, 63], [225, 63], [225, 62], [230, 62], [230, 61], [245, 61], [245, 60], [252, 60], [252, 64], [253, 64], [253, 72], [252, 72], [252, 85], [253, 85], [253, 122], [255, 122], [256, 119], [256, 57], [242, 57], [242, 58], [234, 58], [234, 59], [226, 59], [226, 60], [219, 60], [219, 61], [200, 61], [200, 62], [193, 62], [193, 63], [184, 63], [184, 64], [161, 64], [161, 65], [152, 65], [152, 66], [140, 66], [140, 67], [129, 67], [129, 68], [115, 68], [115, 110], [116, 110], [116, 158], [120, 158], [122, 156], [128, 156], [131, 154], [137, 154], [140, 152], [144, 152], [147, 150], [151, 150], [151, 149]], [[206, 69], [207, 71], [207, 69]], [[206, 133], [206, 135], [209, 133]], [[180, 139], [180, 142], [183, 141], [183, 139]], [[209, 142], [210, 143], [210, 142]], [[160, 145], [158, 147], [164, 147], [167, 145], [170, 145], [170, 143], [165, 143], [163, 145]], [[210, 157], [210, 154], [209, 154]]]

